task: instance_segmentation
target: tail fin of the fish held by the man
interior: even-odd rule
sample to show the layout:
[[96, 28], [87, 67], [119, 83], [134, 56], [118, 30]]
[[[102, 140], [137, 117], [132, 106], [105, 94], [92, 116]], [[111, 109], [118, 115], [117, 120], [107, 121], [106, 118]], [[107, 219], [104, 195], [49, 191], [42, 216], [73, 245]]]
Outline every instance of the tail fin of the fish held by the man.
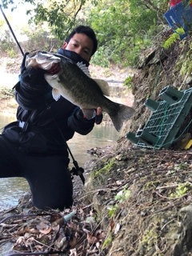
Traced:
[[122, 129], [123, 122], [131, 118], [131, 116], [134, 114], [134, 109], [130, 106], [122, 105], [122, 104], [117, 104], [117, 110], [115, 111], [116, 114], [110, 114], [110, 118], [114, 124], [114, 128], [117, 131], [120, 131]]

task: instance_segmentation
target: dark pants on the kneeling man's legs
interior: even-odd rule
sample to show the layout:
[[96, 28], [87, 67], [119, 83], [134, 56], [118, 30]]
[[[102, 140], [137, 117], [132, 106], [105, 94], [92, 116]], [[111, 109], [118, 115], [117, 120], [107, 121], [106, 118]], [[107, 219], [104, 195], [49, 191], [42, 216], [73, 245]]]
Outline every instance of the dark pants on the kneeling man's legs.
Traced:
[[73, 185], [67, 166], [68, 158], [62, 155], [28, 155], [0, 135], [0, 178], [26, 178], [33, 205], [39, 209], [72, 206]]

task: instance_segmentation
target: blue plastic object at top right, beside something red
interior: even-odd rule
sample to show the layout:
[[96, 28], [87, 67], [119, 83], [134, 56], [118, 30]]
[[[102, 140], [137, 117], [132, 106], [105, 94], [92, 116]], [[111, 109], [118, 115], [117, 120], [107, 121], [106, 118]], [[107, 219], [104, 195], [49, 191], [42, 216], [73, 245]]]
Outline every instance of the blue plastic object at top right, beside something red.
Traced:
[[171, 7], [171, 9], [164, 14], [164, 17], [174, 31], [179, 27], [185, 30], [186, 33], [180, 35], [181, 39], [186, 37], [192, 23], [192, 7], [187, 6], [187, 1], [185, 4], [179, 2]]

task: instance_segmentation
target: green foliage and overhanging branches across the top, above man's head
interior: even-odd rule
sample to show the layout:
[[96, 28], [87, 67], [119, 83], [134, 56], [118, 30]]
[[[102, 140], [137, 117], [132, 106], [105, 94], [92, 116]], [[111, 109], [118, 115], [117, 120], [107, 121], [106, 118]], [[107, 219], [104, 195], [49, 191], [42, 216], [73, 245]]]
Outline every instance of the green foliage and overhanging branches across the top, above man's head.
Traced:
[[[137, 67], [142, 50], [157, 42], [164, 30], [163, 14], [169, 3], [164, 0], [20, 0], [35, 4], [30, 22], [41, 26], [46, 22], [50, 33], [65, 40], [74, 26], [91, 26], [98, 36], [98, 52], [92, 62], [109, 66]], [[2, 0], [3, 6], [16, 6], [14, 0]], [[32, 8], [31, 8], [32, 9]]]

